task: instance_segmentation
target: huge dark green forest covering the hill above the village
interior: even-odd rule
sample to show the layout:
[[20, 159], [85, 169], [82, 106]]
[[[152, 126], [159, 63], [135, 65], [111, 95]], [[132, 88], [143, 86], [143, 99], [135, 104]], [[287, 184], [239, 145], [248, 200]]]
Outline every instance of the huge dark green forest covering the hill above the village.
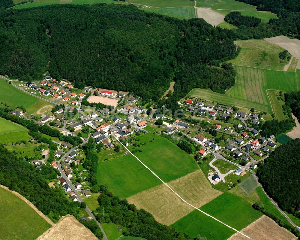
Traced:
[[202, 19], [116, 4], [51, 5], [0, 15], [2, 75], [27, 81], [49, 70], [75, 87], [124, 90], [155, 102], [172, 80], [182, 94], [193, 87], [224, 93], [234, 84], [230, 68], [209, 66], [237, 55], [235, 36]]

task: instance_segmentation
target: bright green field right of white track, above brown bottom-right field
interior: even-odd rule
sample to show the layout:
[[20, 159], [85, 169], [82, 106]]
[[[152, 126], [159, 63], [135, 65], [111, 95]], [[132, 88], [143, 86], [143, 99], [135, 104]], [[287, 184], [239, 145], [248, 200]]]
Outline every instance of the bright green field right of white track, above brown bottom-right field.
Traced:
[[237, 230], [262, 216], [249, 203], [230, 193], [223, 193], [200, 209]]

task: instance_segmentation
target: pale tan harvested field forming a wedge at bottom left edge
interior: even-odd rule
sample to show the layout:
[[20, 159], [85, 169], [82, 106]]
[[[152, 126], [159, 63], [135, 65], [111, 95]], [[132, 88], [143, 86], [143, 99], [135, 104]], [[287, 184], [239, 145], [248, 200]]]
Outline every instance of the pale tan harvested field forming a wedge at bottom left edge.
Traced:
[[75, 217], [67, 215], [62, 217], [55, 226], [44, 232], [36, 240], [98, 240], [98, 238], [85, 226], [79, 223]]

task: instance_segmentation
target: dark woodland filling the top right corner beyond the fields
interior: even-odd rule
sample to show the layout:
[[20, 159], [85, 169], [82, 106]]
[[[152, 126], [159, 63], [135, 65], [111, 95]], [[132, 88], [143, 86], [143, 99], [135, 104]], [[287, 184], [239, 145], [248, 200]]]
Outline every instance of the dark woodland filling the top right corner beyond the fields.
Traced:
[[[269, 38], [277, 35], [288, 35], [300, 39], [300, 2], [290, 0], [237, 0], [257, 6], [259, 11], [271, 11], [277, 14], [278, 19], [270, 19], [269, 23], [259, 25], [240, 25], [232, 33], [240, 39]], [[229, 18], [225, 18], [229, 21]], [[238, 26], [238, 25], [236, 25]]]

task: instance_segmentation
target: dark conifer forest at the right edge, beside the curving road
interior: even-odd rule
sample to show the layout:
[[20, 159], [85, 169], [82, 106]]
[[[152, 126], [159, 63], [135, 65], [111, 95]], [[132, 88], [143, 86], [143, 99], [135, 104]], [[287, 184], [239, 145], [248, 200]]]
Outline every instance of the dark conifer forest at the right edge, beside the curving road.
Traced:
[[281, 209], [294, 215], [300, 210], [299, 165], [300, 138], [297, 138], [277, 147], [257, 170], [265, 191]]

